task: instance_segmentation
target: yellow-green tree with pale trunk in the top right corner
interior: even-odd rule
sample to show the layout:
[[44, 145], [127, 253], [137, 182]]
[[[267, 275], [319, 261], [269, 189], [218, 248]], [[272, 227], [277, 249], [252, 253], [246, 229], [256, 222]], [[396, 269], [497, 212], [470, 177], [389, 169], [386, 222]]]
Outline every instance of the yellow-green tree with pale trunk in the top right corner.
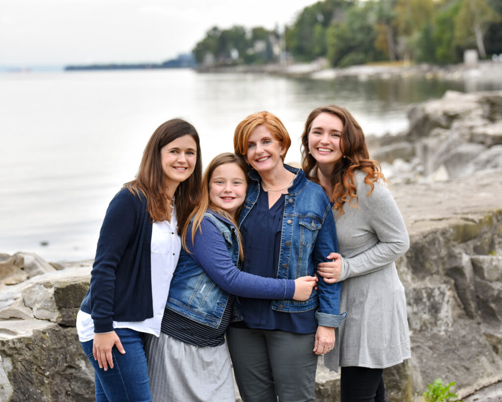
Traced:
[[455, 21], [455, 38], [462, 44], [475, 43], [479, 55], [486, 57], [484, 35], [490, 24], [500, 21], [500, 14], [486, 0], [462, 0]]

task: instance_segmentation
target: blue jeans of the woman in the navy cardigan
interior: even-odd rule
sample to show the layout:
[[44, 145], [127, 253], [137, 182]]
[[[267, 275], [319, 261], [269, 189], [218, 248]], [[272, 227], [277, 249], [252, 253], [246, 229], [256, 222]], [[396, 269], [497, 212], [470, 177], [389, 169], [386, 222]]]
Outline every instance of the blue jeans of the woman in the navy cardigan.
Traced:
[[115, 333], [126, 353], [115, 346], [111, 349], [113, 368], [99, 368], [92, 355], [94, 341], [81, 342], [82, 349], [94, 367], [96, 402], [151, 402], [147, 359], [143, 349], [142, 332], [129, 328], [117, 328]]

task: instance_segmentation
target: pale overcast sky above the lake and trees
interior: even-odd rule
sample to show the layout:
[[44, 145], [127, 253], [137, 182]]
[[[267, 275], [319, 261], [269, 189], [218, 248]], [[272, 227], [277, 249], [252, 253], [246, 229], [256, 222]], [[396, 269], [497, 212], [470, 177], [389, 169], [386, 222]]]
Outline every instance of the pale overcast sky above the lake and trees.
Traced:
[[159, 62], [213, 26], [291, 24], [315, 0], [0, 0], [0, 65]]

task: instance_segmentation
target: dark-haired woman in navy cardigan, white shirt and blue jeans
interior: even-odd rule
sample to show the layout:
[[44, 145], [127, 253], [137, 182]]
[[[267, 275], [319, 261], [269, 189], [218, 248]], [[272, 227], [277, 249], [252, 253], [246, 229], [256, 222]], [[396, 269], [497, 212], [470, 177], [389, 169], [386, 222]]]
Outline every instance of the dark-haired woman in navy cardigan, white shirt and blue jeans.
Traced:
[[94, 366], [96, 401], [151, 401], [144, 335], [159, 336], [183, 227], [198, 202], [199, 136], [182, 119], [165, 122], [143, 153], [137, 178], [106, 211], [77, 315]]

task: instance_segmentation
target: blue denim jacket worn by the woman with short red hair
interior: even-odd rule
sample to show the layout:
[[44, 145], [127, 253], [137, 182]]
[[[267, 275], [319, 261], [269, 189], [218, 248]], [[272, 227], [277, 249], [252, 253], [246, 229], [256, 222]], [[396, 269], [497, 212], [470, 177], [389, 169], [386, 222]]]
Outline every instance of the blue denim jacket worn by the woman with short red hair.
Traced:
[[[296, 173], [293, 184], [285, 197], [281, 249], [277, 278], [296, 279], [314, 275], [317, 264], [327, 261], [331, 252], [337, 252], [336, 229], [329, 199], [322, 187], [305, 177], [301, 169], [284, 165]], [[240, 214], [239, 228], [260, 194], [260, 176], [251, 170], [246, 199]], [[253, 241], [247, 239], [247, 241]], [[318, 309], [318, 325], [338, 327], [345, 318], [339, 314], [340, 283], [326, 283], [319, 278], [318, 290], [305, 302], [297, 300], [273, 300], [272, 309], [280, 312], [298, 313]], [[238, 310], [238, 305], [235, 306]], [[240, 312], [237, 311], [237, 314]]]

